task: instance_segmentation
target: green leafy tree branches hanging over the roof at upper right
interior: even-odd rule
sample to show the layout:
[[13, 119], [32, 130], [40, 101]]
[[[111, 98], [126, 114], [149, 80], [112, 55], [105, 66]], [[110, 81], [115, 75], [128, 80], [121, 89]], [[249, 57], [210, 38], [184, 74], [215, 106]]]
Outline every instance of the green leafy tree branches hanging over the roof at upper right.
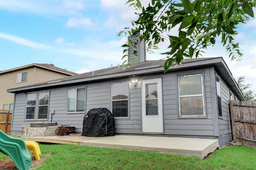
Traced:
[[[252, 8], [256, 6], [255, 0], [151, 0], [147, 6], [142, 5], [142, 0], [126, 1], [135, 8], [138, 19], [132, 21], [132, 28], [125, 28], [118, 35], [131, 36], [140, 32], [140, 39], [146, 41], [149, 52], [153, 52], [159, 43], [169, 40], [163, 53], [167, 57], [165, 72], [172, 64], [180, 64], [185, 57], [202, 56], [203, 50], [215, 45], [219, 36], [228, 56], [239, 59], [243, 54], [234, 42], [236, 28], [249, 16], [253, 17]], [[170, 36], [177, 24], [180, 24], [178, 36]], [[123, 60], [130, 45], [127, 42], [122, 46], [125, 48]], [[135, 51], [131, 53], [136, 54]]]

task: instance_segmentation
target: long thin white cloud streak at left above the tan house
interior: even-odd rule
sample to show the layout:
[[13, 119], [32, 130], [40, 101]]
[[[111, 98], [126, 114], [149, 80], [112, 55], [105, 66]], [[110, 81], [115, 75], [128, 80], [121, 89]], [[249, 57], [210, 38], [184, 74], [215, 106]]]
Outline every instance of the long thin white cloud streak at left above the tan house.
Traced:
[[28, 39], [25, 38], [21, 38], [21, 37], [16, 37], [16, 36], [12, 36], [12, 35], [8, 35], [6, 33], [1, 33], [0, 32], [0, 38], [12, 41], [14, 43], [23, 45], [23, 46], [28, 46], [28, 47], [32, 47], [32, 48], [37, 48], [37, 49], [49, 49], [51, 48], [50, 46], [44, 45], [44, 44], [39, 44], [36, 43], [34, 41], [30, 41]]

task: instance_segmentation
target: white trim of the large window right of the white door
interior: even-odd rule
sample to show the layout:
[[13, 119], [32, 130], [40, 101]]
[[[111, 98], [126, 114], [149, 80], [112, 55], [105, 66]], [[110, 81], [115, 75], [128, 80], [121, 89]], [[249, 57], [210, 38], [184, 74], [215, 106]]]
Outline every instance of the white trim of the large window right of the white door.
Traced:
[[[199, 95], [180, 95], [180, 84], [179, 84], [179, 78], [180, 77], [191, 77], [191, 76], [195, 76], [195, 75], [201, 75], [201, 81], [202, 81], [202, 94]], [[206, 117], [206, 113], [205, 113], [205, 99], [204, 99], [204, 79], [203, 79], [203, 74], [202, 73], [198, 73], [198, 74], [185, 74], [185, 75], [178, 75], [178, 100], [179, 100], [179, 117]], [[204, 114], [203, 115], [181, 115], [181, 108], [180, 108], [180, 98], [181, 97], [198, 97], [198, 96], [202, 96], [203, 98], [203, 111]]]

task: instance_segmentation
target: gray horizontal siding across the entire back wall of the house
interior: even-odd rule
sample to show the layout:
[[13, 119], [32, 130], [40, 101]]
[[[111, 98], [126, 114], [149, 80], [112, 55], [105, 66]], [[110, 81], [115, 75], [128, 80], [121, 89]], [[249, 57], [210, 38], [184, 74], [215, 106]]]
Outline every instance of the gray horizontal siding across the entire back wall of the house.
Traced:
[[[190, 69], [186, 71], [175, 71], [166, 74], [143, 75], [139, 79], [162, 78], [163, 80], [163, 117], [164, 134], [170, 135], [206, 135], [218, 136], [216, 125], [214, 125], [213, 103], [215, 87], [211, 84], [214, 80], [213, 67], [203, 69]], [[180, 74], [203, 74], [205, 110], [204, 118], [179, 118], [178, 86], [177, 76]], [[67, 114], [67, 95], [69, 88], [86, 87], [86, 113], [91, 108], [106, 107], [111, 111], [111, 84], [117, 82], [128, 82], [129, 78], [101, 81], [81, 84], [76, 86], [53, 88], [50, 90], [49, 121], [51, 111], [54, 110], [52, 120], [58, 124], [71, 125], [76, 127], [77, 132], [82, 131], [83, 114]], [[115, 119], [116, 133], [137, 133], [141, 134], [141, 81], [137, 86], [129, 82], [129, 117], [126, 119]], [[45, 90], [44, 90], [45, 91]], [[37, 91], [38, 92], [38, 91]], [[215, 110], [215, 109], [214, 109]], [[26, 94], [19, 93], [15, 98], [12, 133], [20, 133], [22, 124], [29, 124], [25, 121]], [[218, 125], [217, 125], [218, 126]]]

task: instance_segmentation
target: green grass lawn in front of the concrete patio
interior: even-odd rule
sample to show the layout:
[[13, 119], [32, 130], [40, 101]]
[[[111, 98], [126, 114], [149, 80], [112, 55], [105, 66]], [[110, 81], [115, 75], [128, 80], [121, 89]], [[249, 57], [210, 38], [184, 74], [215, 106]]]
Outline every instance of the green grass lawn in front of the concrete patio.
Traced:
[[[40, 145], [48, 155], [37, 169], [255, 169], [256, 149], [230, 146], [206, 159], [156, 152], [93, 148], [75, 145]], [[0, 159], [5, 159], [0, 154]]]

